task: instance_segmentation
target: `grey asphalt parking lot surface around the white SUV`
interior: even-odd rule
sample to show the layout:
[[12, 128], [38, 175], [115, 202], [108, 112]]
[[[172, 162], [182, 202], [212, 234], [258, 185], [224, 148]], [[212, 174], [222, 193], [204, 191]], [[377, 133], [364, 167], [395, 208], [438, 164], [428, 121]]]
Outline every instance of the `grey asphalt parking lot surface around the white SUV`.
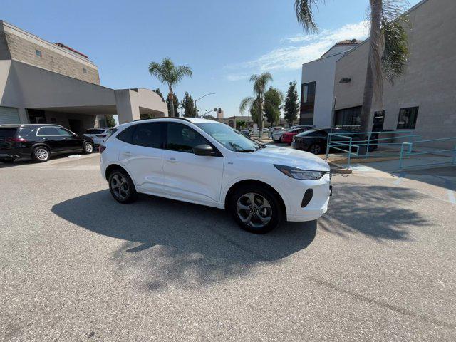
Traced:
[[321, 219], [259, 236], [118, 204], [98, 160], [0, 164], [1, 341], [456, 340], [454, 177], [334, 175]]

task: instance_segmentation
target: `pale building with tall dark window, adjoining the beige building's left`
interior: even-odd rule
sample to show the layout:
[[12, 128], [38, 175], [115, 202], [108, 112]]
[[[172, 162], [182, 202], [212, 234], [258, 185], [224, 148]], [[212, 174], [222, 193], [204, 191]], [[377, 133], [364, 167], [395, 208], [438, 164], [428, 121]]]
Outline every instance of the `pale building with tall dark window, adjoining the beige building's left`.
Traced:
[[[361, 41], [340, 41], [321, 58], [302, 66], [301, 125], [331, 126], [336, 62]], [[318, 95], [316, 95], [318, 94]]]

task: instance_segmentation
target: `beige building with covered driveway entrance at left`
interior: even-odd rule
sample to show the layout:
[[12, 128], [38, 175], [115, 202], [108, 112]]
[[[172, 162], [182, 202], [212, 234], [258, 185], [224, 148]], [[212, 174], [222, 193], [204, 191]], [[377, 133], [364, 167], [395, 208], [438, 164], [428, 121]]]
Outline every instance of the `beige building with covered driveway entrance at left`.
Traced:
[[57, 123], [81, 133], [104, 115], [126, 123], [167, 115], [167, 105], [152, 90], [100, 86], [88, 56], [0, 21], [0, 124]]

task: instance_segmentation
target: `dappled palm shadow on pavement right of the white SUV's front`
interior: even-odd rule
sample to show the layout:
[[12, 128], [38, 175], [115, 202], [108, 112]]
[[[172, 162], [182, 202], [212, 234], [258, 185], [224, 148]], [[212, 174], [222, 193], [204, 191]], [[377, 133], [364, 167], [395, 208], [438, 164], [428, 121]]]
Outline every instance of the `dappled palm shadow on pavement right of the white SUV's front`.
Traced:
[[415, 211], [410, 202], [426, 198], [399, 187], [336, 183], [328, 213], [318, 221], [326, 232], [348, 237], [360, 233], [382, 242], [409, 240], [410, 227], [430, 222]]

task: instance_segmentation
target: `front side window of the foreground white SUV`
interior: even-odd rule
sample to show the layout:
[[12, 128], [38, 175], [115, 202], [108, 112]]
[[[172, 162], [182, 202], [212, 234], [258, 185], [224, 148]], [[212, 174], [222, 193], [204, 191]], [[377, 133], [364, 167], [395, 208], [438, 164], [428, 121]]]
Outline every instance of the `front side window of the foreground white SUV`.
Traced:
[[193, 147], [202, 144], [209, 144], [209, 142], [187, 125], [167, 124], [167, 150], [192, 153]]

